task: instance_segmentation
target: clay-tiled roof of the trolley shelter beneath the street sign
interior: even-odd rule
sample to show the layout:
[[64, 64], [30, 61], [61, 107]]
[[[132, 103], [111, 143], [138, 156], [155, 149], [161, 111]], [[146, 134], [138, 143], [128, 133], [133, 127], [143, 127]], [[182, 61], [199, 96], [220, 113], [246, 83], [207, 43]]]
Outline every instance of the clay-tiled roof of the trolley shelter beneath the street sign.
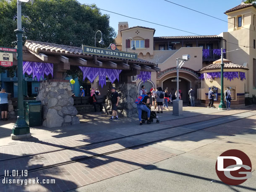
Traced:
[[[49, 54], [56, 54], [56, 53], [63, 53], [65, 54], [76, 54], [76, 55], [81, 55], [81, 56], [92, 56], [92, 54], [85, 54], [82, 53], [82, 48], [81, 47], [71, 47], [67, 45], [60, 45], [60, 44], [53, 44], [53, 43], [46, 43], [46, 42], [37, 42], [37, 41], [31, 41], [31, 40], [26, 40], [25, 47], [29, 49], [30, 51], [39, 54], [40, 52]], [[108, 57], [108, 56], [100, 56], [97, 55], [97, 57], [103, 57], [103, 58], [112, 58], [112, 59], [117, 59], [117, 60], [126, 60], [122, 58], [117, 58], [117, 57]], [[128, 61], [136, 61], [139, 63], [146, 63], [146, 64], [154, 64], [153, 62], [149, 62], [146, 60], [139, 59], [138, 60], [128, 60]]]

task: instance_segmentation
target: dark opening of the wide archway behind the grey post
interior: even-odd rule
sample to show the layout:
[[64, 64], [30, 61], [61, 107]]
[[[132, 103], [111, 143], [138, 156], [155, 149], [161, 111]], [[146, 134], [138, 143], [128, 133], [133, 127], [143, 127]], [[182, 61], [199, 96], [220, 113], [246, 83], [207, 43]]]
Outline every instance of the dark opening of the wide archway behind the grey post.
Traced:
[[[177, 89], [177, 80], [176, 80], [176, 77], [172, 77], [172, 78], [168, 78], [166, 80], [164, 80], [162, 82], [162, 85], [163, 85], [163, 90], [165, 90], [166, 88], [168, 88], [168, 93], [172, 92], [172, 95], [175, 94], [175, 91]], [[184, 102], [187, 102], [188, 101], [188, 91], [191, 87], [191, 81], [185, 79], [185, 78], [182, 78], [182, 77], [179, 77], [179, 89], [182, 91], [182, 100]]]

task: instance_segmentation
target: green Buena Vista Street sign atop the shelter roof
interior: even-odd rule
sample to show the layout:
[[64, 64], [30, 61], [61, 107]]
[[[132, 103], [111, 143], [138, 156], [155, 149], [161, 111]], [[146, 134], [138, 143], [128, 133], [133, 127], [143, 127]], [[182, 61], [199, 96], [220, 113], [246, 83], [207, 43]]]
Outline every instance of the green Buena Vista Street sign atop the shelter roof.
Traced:
[[86, 53], [86, 54], [94, 54], [94, 55], [101, 55], [101, 56], [107, 56], [107, 57], [117, 57], [117, 58], [123, 58], [123, 59], [138, 60], [137, 53], [119, 51], [116, 48], [115, 44], [110, 44], [110, 47], [108, 47], [107, 49], [82, 45], [82, 49], [83, 49], [83, 53]]

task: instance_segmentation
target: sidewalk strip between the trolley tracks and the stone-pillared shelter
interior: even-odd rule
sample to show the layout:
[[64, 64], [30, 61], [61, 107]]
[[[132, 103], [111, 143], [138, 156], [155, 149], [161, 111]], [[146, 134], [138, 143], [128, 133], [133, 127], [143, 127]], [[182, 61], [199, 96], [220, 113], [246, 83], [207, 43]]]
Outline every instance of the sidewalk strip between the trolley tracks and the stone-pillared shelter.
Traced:
[[[218, 109], [209, 109], [205, 107], [183, 107], [183, 114], [180, 116], [172, 115], [172, 107], [169, 107], [168, 110], [164, 110], [163, 113], [157, 114], [160, 119], [160, 124], [156, 124], [156, 120], [154, 119], [154, 126], [165, 126], [173, 125], [171, 120], [173, 119], [181, 119], [185, 117], [196, 117], [203, 114], [229, 114], [233, 111], [241, 111], [241, 110], [252, 110], [255, 109], [255, 106], [246, 107], [240, 110], [231, 110], [231, 111], [219, 111]], [[111, 116], [97, 113], [91, 114], [83, 114], [78, 115], [80, 119], [79, 125], [70, 125], [65, 127], [56, 127], [56, 128], [47, 128], [44, 126], [30, 127], [30, 132], [32, 137], [24, 140], [11, 140], [10, 134], [12, 133], [13, 125], [15, 124], [14, 120], [9, 121], [0, 121], [0, 146], [6, 145], [16, 145], [21, 143], [33, 142], [34, 140], [50, 140], [56, 138], [64, 138], [73, 135], [86, 135], [91, 132], [99, 132], [99, 131], [109, 131], [118, 128], [141, 128], [139, 126], [138, 118], [135, 117], [120, 117], [118, 121], [110, 121], [109, 118]], [[203, 119], [202, 119], [203, 120]], [[165, 123], [162, 123], [164, 122]], [[166, 121], [169, 121], [166, 122]], [[164, 124], [164, 125], [163, 125]], [[174, 124], [175, 125], [175, 124]], [[147, 125], [142, 125], [147, 126]]]

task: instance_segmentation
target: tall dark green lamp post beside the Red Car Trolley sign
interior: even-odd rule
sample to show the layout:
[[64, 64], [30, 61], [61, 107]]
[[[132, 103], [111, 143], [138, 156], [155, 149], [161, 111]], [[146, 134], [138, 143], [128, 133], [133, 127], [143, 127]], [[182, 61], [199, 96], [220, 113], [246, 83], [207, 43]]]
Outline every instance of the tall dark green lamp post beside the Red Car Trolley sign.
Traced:
[[17, 0], [17, 60], [18, 60], [18, 117], [13, 131], [11, 134], [12, 140], [19, 140], [23, 138], [31, 137], [29, 125], [26, 123], [24, 118], [24, 104], [23, 104], [23, 58], [22, 58], [22, 34], [23, 30], [21, 27], [21, 2], [28, 3], [33, 0]]

